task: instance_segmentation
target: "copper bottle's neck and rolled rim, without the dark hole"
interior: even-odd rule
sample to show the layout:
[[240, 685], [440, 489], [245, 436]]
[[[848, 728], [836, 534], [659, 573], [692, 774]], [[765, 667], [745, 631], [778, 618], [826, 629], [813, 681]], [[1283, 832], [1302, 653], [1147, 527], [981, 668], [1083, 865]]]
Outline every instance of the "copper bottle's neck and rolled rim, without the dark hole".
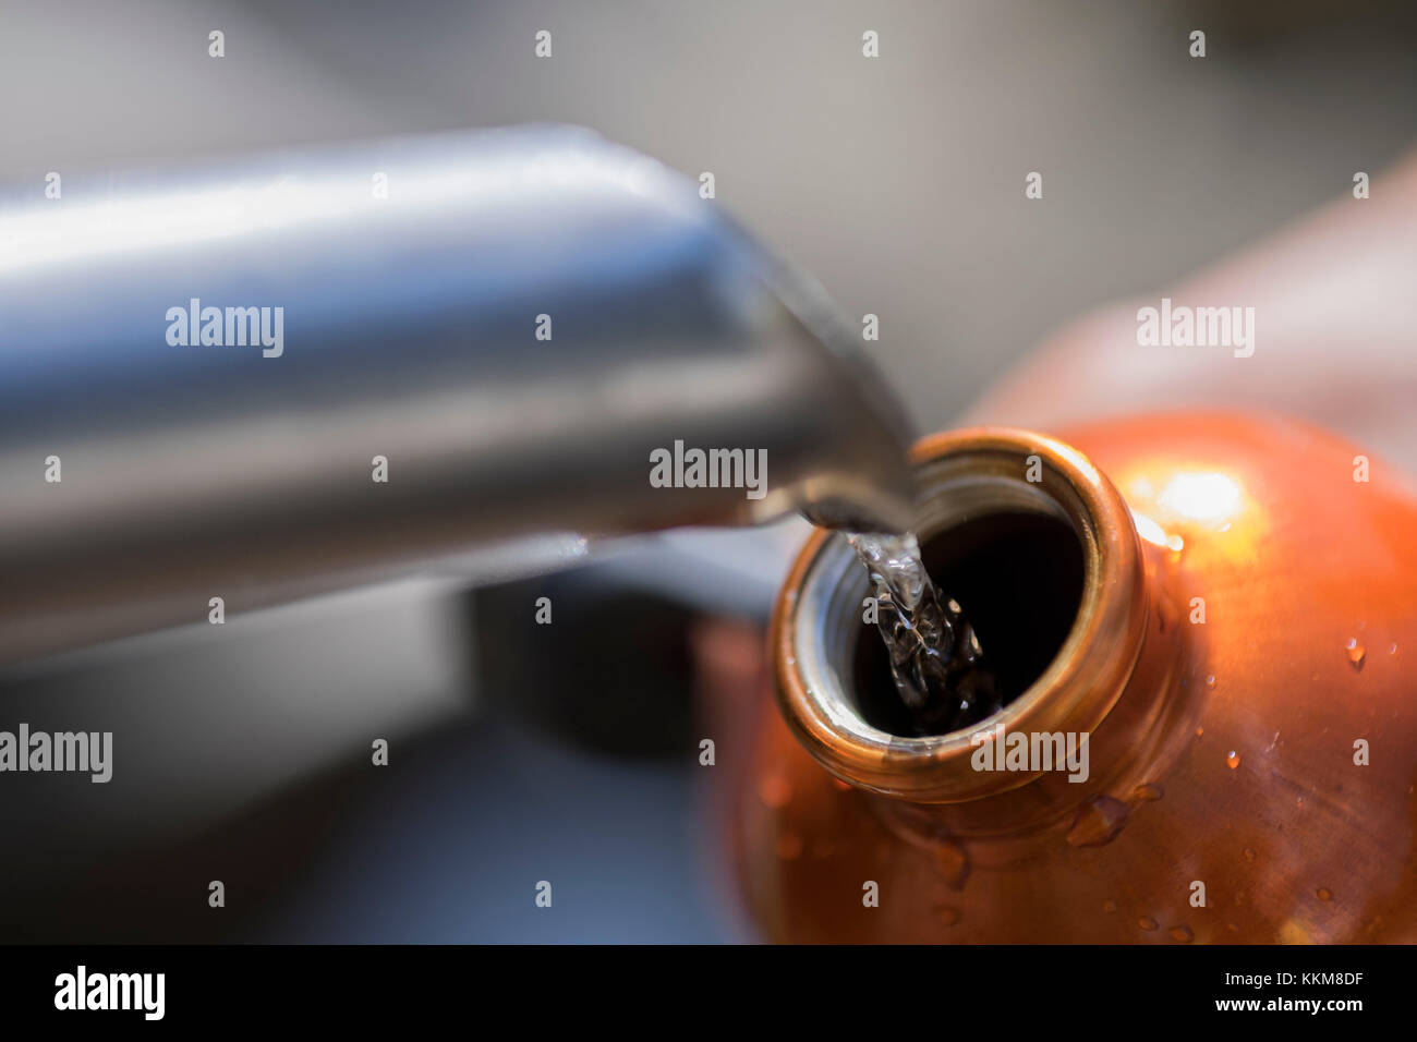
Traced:
[[[948, 542], [965, 522], [979, 527], [993, 515], [1037, 515], [1071, 530], [1080, 590], [1036, 594], [1076, 597], [1071, 627], [1002, 712], [948, 734], [891, 734], [871, 722], [854, 668], [857, 642], [873, 637], [862, 624], [864, 571], [845, 540], [818, 533], [788, 577], [772, 625], [789, 726], [832, 774], [886, 797], [883, 812], [911, 829], [982, 835], [1087, 825], [1080, 811], [1098, 807], [1105, 828], [1107, 812], [1124, 808], [1098, 800], [1112, 800], [1102, 794], [1118, 785], [1145, 785], [1131, 778], [1146, 775], [1169, 733], [1163, 717], [1178, 712], [1165, 698], [1180, 641], [1165, 550], [1138, 537], [1117, 489], [1063, 442], [969, 430], [927, 438], [913, 462], [922, 543]], [[1009, 560], [1009, 550], [995, 546], [996, 560]]]

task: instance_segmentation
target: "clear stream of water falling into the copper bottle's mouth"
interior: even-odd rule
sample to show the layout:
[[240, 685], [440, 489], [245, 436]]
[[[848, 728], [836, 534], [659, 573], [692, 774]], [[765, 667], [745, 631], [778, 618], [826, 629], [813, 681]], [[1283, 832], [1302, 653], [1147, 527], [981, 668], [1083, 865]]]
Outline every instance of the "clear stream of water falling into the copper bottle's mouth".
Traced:
[[941, 600], [913, 533], [853, 532], [847, 542], [876, 590], [877, 625], [917, 736], [945, 734], [1003, 707], [973, 627]]

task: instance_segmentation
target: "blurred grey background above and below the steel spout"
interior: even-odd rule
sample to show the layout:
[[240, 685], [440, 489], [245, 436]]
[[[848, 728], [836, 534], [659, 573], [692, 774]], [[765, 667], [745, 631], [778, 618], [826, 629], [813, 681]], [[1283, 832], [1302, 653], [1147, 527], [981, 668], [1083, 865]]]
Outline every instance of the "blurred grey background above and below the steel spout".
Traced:
[[[927, 431], [1067, 320], [1408, 152], [1414, 55], [1401, 1], [0, 0], [0, 180], [581, 123], [713, 172], [720, 206], [877, 313], [866, 349]], [[1023, 204], [1030, 170], [1046, 206]], [[761, 625], [801, 533], [665, 536], [554, 577], [408, 583], [7, 671], [0, 727], [112, 730], [116, 767], [0, 781], [0, 940], [751, 939], [693, 649]]]

